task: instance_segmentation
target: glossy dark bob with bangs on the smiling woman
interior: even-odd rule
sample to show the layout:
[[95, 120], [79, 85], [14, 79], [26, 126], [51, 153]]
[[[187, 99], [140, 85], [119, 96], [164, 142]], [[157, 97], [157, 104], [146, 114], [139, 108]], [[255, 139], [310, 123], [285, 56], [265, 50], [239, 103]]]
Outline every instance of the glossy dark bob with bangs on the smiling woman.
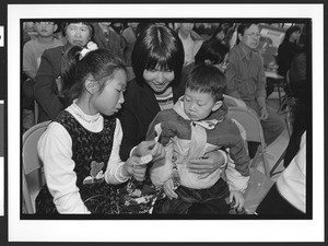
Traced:
[[138, 83], [144, 83], [143, 71], [153, 70], [159, 66], [161, 70], [174, 71], [178, 83], [184, 66], [184, 46], [177, 33], [165, 25], [149, 24], [137, 37], [132, 50], [131, 62]]

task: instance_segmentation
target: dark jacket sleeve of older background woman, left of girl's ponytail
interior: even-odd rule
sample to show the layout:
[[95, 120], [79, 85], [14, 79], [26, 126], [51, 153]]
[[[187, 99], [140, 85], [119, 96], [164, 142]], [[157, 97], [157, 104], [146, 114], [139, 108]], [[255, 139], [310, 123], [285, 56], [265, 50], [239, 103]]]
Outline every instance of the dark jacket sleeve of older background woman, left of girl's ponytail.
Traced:
[[[42, 62], [35, 77], [34, 94], [39, 106], [46, 112], [50, 119], [54, 119], [57, 114], [63, 108], [58, 96], [56, 95], [57, 83], [56, 79], [59, 74], [56, 73], [60, 62], [55, 62], [47, 50], [42, 56]], [[58, 69], [59, 71], [59, 69]]]

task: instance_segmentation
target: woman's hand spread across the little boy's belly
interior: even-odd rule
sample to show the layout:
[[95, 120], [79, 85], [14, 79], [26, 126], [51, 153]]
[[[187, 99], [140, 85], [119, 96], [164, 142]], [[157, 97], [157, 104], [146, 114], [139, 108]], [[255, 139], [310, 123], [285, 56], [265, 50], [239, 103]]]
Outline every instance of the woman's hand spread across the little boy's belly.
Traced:
[[214, 171], [224, 166], [225, 157], [221, 151], [212, 151], [201, 159], [190, 160], [188, 168], [190, 173], [200, 174], [199, 178], [206, 178]]

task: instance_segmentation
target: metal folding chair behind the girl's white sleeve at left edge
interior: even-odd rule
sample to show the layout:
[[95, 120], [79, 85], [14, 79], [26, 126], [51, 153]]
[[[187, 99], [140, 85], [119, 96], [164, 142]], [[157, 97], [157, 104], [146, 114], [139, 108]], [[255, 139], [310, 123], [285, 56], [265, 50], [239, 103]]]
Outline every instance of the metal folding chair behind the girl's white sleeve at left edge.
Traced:
[[26, 213], [35, 213], [35, 198], [45, 184], [43, 163], [37, 154], [37, 142], [50, 121], [37, 124], [23, 134], [23, 203]]

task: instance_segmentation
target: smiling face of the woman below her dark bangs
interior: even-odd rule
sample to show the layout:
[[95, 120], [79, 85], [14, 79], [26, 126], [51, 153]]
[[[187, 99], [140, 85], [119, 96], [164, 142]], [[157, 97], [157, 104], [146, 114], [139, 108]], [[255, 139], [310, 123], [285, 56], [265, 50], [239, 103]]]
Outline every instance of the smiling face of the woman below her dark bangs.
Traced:
[[143, 79], [155, 93], [163, 93], [174, 80], [174, 71], [163, 71], [160, 69], [144, 70]]

